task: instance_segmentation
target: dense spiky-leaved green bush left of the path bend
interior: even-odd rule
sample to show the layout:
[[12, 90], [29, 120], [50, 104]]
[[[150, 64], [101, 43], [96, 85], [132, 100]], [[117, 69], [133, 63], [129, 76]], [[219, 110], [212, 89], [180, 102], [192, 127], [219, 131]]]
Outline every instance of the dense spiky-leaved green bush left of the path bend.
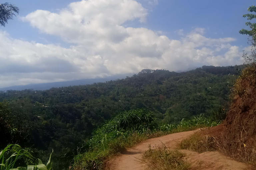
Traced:
[[155, 129], [158, 129], [158, 124], [152, 113], [146, 112], [145, 109], [129, 110], [117, 114], [103, 127], [95, 130], [86, 145], [97, 148], [102, 146], [105, 151], [109, 141], [115, 138], [126, 138], [134, 132], [142, 134]]

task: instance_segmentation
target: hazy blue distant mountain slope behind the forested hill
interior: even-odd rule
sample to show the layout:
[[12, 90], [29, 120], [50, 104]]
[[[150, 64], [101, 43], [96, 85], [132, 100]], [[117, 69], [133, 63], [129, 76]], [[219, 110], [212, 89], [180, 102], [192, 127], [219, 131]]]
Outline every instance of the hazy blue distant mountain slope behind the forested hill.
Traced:
[[58, 88], [58, 87], [86, 85], [86, 84], [93, 84], [93, 83], [99, 83], [99, 82], [106, 82], [106, 81], [110, 81], [110, 80], [123, 79], [126, 76], [132, 76], [132, 75], [133, 74], [118, 74], [115, 76], [109, 76], [109, 77], [105, 77], [105, 78], [94, 78], [94, 79], [82, 79], [82, 80], [73, 80], [73, 81], [53, 82], [53, 83], [18, 85], [18, 86], [10, 86], [10, 87], [0, 88], [0, 91], [25, 90], [25, 89], [48, 90], [52, 87]]

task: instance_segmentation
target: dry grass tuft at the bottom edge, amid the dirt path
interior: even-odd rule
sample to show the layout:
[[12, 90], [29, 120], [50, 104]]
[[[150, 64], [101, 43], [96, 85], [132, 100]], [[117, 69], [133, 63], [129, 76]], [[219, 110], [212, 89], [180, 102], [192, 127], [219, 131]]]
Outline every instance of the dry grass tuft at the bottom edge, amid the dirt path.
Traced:
[[190, 165], [182, 160], [184, 156], [184, 153], [169, 150], [164, 144], [155, 149], [149, 146], [149, 150], [144, 153], [144, 158], [147, 160], [143, 162], [152, 170], [187, 170]]

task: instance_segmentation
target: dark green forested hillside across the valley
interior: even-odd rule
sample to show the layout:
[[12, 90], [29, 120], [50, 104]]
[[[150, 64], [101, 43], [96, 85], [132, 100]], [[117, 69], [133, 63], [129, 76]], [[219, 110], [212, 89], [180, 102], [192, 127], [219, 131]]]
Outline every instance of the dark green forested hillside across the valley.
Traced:
[[0, 91], [0, 110], [5, 110], [0, 112], [0, 128], [7, 139], [0, 147], [17, 143], [42, 160], [53, 149], [55, 169], [68, 168], [93, 130], [119, 112], [144, 108], [158, 123], [175, 124], [227, 110], [242, 68], [203, 66], [182, 73], [144, 69], [132, 77], [92, 85]]

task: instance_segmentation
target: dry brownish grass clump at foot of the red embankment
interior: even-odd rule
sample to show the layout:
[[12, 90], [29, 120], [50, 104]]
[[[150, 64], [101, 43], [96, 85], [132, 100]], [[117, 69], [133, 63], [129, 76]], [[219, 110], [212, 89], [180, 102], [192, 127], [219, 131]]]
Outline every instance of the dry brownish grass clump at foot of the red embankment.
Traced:
[[182, 140], [179, 147], [202, 153], [218, 150], [219, 142], [213, 136], [193, 134], [190, 138]]

